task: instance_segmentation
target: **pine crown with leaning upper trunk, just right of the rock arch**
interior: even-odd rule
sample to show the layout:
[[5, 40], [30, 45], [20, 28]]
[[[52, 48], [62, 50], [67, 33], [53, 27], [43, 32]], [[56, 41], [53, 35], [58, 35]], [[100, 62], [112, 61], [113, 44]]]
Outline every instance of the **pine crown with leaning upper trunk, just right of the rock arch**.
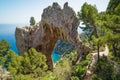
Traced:
[[85, 27], [81, 27], [83, 31], [93, 28], [92, 33], [98, 37], [96, 24], [98, 18], [97, 9], [90, 4], [84, 3], [81, 11], [78, 12], [78, 17], [83, 21], [83, 24], [85, 25]]

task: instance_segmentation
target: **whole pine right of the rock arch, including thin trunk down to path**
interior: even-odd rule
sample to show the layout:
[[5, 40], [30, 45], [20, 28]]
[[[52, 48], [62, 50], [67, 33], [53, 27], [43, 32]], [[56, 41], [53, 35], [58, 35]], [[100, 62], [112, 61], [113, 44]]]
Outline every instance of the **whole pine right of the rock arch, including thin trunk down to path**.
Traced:
[[[83, 29], [83, 31], [91, 31], [89, 32], [89, 40], [92, 40], [92, 36], [94, 35], [95, 38], [99, 38], [98, 30], [100, 30], [99, 26], [99, 13], [95, 6], [92, 6], [90, 4], [84, 3], [82, 6], [81, 11], [78, 12], [78, 17], [80, 20], [82, 20], [83, 25], [85, 27], [80, 27]], [[100, 43], [99, 40], [97, 40], [97, 51], [98, 51], [98, 61], [99, 61], [99, 49], [100, 49]]]

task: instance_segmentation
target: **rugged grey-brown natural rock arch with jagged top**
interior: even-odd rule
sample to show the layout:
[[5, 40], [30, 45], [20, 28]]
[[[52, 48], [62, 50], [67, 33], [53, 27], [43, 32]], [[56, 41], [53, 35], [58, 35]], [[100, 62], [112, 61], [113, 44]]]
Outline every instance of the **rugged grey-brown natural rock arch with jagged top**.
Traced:
[[65, 40], [73, 44], [80, 54], [83, 53], [82, 42], [79, 38], [77, 28], [79, 20], [68, 3], [63, 9], [53, 3], [44, 9], [41, 21], [24, 28], [16, 28], [16, 44], [20, 55], [29, 48], [34, 47], [37, 51], [44, 53], [47, 57], [49, 69], [53, 68], [51, 58], [57, 40]]

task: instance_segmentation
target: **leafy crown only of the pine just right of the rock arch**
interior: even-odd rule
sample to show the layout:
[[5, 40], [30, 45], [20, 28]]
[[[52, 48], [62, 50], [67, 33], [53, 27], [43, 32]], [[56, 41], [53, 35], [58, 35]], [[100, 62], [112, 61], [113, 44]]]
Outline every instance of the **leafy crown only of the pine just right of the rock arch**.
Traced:
[[94, 25], [96, 23], [98, 11], [97, 9], [87, 3], [84, 3], [80, 12], [78, 12], [78, 17], [84, 22], [86, 27]]

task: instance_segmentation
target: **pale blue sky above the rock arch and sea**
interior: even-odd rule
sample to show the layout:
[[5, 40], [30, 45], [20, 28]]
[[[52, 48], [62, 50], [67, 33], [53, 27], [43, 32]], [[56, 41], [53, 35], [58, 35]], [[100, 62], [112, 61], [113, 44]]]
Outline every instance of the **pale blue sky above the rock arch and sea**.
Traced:
[[44, 8], [58, 2], [61, 7], [68, 2], [75, 12], [81, 9], [84, 2], [96, 5], [98, 11], [105, 11], [109, 0], [0, 0], [0, 23], [29, 23], [31, 16], [39, 22]]

